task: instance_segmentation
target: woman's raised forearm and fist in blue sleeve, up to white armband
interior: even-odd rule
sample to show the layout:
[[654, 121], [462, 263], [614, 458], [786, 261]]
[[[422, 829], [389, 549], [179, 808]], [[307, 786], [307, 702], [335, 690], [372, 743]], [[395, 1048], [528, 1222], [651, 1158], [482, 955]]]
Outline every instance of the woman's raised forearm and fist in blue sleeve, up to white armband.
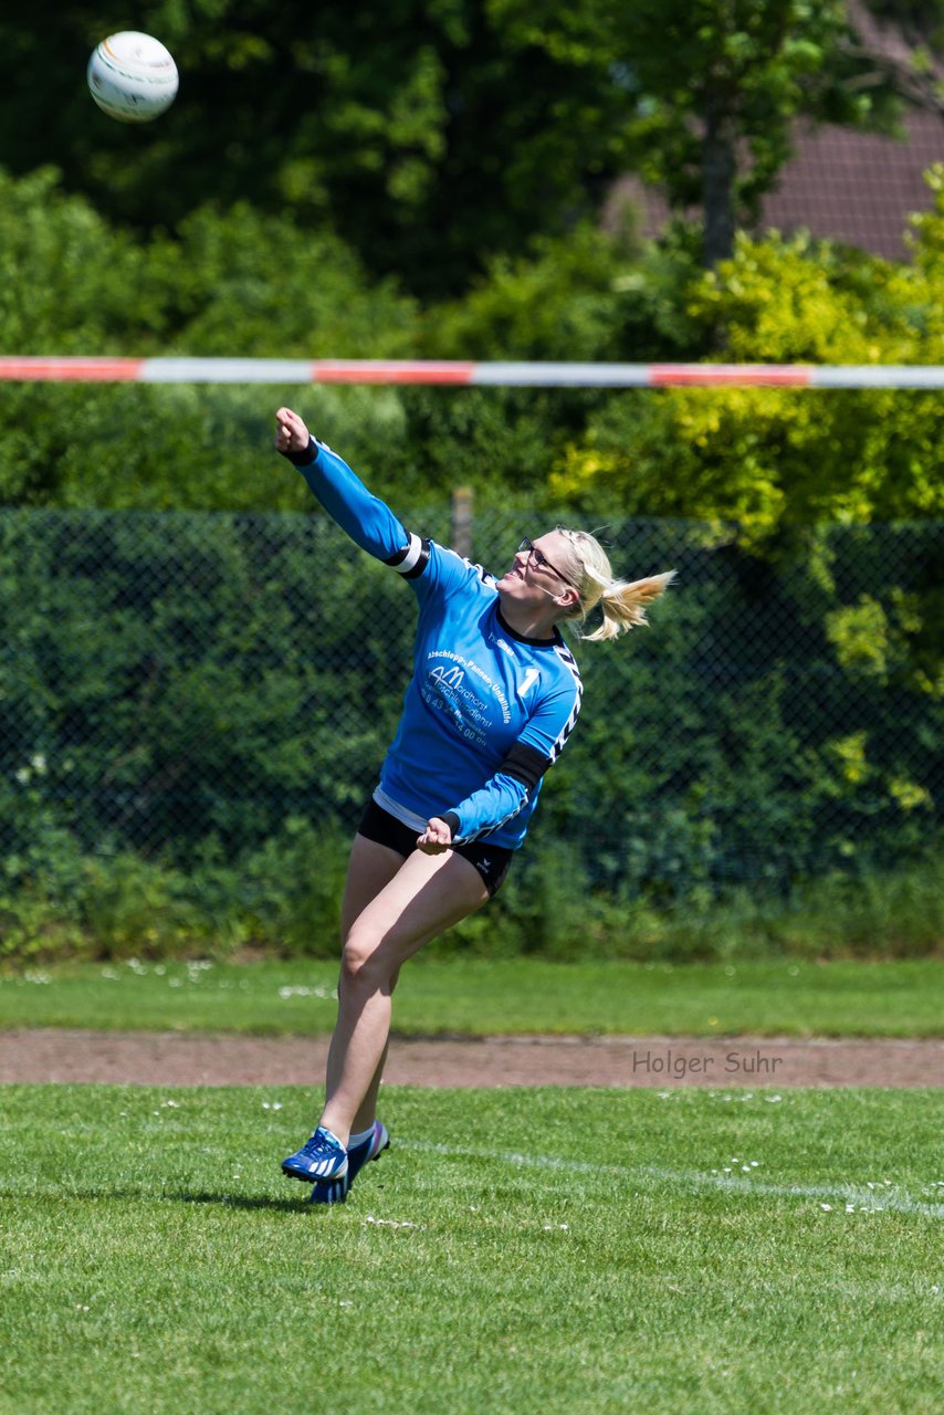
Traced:
[[429, 543], [406, 531], [337, 453], [311, 437], [290, 408], [276, 413], [275, 446], [299, 468], [324, 509], [355, 545], [401, 574], [422, 573], [429, 560]]

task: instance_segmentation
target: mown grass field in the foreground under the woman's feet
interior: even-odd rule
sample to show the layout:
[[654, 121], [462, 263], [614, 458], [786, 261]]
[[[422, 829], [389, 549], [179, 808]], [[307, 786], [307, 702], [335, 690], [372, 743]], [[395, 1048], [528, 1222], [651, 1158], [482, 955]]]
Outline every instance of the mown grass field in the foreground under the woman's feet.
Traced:
[[7, 1087], [0, 1411], [931, 1415], [940, 1092]]

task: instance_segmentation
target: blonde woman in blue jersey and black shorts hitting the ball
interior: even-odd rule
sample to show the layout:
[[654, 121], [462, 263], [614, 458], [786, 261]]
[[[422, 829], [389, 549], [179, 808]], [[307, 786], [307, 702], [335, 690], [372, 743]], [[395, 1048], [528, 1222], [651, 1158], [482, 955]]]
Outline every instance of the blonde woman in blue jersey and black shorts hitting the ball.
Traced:
[[558, 528], [525, 538], [495, 579], [408, 532], [287, 408], [275, 444], [419, 608], [403, 713], [351, 849], [324, 1108], [282, 1165], [314, 1184], [314, 1203], [343, 1203], [389, 1143], [376, 1095], [401, 966], [500, 889], [577, 720], [580, 674], [559, 625], [583, 630], [596, 611], [580, 637], [616, 638], [645, 621], [674, 572], [617, 580], [593, 536]]

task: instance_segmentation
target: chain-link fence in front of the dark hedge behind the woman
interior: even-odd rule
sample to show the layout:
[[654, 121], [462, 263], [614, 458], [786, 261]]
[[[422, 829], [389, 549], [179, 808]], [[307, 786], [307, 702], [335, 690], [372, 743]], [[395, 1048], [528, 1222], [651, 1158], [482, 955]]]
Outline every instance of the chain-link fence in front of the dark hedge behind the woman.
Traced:
[[[507, 514], [409, 518], [508, 563]], [[798, 536], [627, 521], [614, 569], [674, 567], [651, 627], [577, 645], [585, 708], [529, 849], [587, 887], [679, 899], [893, 865], [944, 791], [944, 526]], [[0, 855], [187, 869], [287, 819], [351, 832], [410, 669], [413, 597], [320, 515], [0, 515]], [[446, 805], [449, 802], [444, 802]]]

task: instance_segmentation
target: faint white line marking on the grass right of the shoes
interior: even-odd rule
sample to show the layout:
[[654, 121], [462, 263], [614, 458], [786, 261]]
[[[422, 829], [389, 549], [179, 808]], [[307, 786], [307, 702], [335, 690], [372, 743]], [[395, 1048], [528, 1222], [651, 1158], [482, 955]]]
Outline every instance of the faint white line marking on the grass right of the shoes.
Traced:
[[919, 1214], [924, 1218], [944, 1218], [944, 1204], [926, 1204], [906, 1194], [883, 1193], [860, 1184], [770, 1184], [766, 1180], [726, 1174], [706, 1174], [696, 1169], [661, 1169], [657, 1165], [590, 1165], [585, 1160], [555, 1159], [552, 1155], [519, 1155], [514, 1150], [483, 1150], [460, 1145], [436, 1145], [430, 1140], [398, 1140], [403, 1149], [425, 1150], [447, 1159], [484, 1159], [522, 1169], [558, 1170], [566, 1174], [606, 1174], [624, 1179], [637, 1187], [678, 1184], [686, 1189], [722, 1189], [736, 1194], [760, 1194], [767, 1199], [834, 1199], [842, 1204], [856, 1204], [870, 1213]]

